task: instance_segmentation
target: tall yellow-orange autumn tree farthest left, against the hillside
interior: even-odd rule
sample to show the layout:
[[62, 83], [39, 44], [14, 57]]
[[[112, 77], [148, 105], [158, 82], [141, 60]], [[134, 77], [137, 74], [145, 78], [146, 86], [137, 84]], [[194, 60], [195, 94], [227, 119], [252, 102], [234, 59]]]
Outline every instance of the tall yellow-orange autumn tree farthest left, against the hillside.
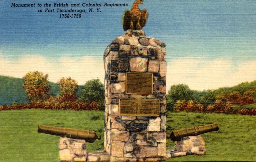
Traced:
[[30, 102], [42, 102], [49, 97], [48, 92], [51, 86], [48, 83], [48, 74], [43, 75], [41, 71], [30, 71], [23, 79], [24, 88]]

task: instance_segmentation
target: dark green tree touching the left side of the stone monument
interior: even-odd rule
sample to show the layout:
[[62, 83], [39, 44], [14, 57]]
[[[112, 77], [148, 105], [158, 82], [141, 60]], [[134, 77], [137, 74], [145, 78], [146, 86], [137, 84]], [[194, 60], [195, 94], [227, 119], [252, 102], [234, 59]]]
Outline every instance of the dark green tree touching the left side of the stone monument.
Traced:
[[104, 109], [104, 85], [100, 79], [92, 79], [84, 84], [82, 94], [79, 97], [80, 101], [100, 103], [100, 109]]

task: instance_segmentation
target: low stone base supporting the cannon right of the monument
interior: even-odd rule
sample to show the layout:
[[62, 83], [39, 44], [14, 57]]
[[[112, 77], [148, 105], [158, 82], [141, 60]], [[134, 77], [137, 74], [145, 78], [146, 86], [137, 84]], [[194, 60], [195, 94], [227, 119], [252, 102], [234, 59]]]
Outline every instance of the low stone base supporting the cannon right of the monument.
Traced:
[[174, 158], [185, 155], [205, 154], [204, 138], [201, 135], [183, 137], [180, 141], [175, 141], [174, 149], [166, 151], [167, 158]]

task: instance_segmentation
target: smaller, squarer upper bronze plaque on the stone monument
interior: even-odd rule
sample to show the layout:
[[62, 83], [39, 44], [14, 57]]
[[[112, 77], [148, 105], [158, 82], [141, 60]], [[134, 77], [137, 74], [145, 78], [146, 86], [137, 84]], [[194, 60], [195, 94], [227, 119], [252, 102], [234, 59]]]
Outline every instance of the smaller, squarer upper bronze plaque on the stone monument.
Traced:
[[153, 94], [152, 73], [126, 73], [126, 94]]

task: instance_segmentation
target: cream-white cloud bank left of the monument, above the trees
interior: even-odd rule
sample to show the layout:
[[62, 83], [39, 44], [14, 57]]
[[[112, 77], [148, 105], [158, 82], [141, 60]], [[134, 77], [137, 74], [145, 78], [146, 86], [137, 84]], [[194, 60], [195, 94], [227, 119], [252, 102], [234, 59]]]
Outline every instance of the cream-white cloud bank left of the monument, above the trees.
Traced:
[[10, 61], [0, 58], [0, 75], [22, 78], [28, 71], [42, 71], [49, 74], [49, 81], [57, 82], [62, 77], [71, 77], [79, 85], [91, 79], [104, 82], [104, 67], [101, 57], [61, 57], [47, 59], [43, 56], [26, 56], [19, 60]]

